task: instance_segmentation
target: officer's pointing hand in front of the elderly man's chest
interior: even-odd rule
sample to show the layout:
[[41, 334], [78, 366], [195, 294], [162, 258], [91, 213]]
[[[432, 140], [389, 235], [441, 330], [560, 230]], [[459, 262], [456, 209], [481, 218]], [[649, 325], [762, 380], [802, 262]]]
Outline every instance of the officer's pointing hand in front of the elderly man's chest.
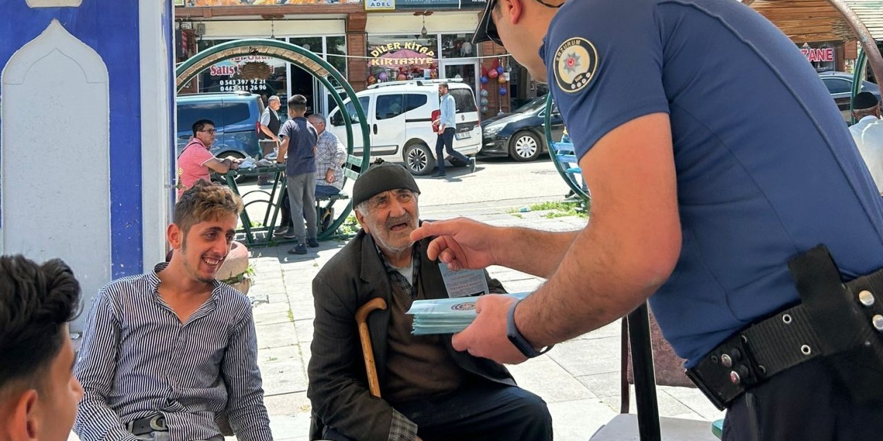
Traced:
[[435, 236], [426, 254], [433, 260], [448, 264], [451, 270], [464, 268], [484, 269], [494, 265], [494, 248], [497, 242], [495, 232], [500, 228], [466, 218], [450, 221], [423, 222], [420, 228], [411, 232], [411, 240]]

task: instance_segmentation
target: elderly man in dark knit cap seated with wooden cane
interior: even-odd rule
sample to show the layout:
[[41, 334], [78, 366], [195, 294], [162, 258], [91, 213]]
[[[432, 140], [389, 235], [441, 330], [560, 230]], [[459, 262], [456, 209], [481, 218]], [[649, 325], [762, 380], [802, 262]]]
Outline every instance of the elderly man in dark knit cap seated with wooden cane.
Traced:
[[[410, 239], [418, 196], [407, 169], [381, 161], [354, 185], [362, 229], [313, 280], [311, 439], [552, 439], [546, 403], [502, 365], [455, 351], [449, 335], [411, 335], [411, 303], [448, 296], [429, 241]], [[353, 317], [375, 297], [389, 305], [368, 318], [382, 399], [368, 392]]]

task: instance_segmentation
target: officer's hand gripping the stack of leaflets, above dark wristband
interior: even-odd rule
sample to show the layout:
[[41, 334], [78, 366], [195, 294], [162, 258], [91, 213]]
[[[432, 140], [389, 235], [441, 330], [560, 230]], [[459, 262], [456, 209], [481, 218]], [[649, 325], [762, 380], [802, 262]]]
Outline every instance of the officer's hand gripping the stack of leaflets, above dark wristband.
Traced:
[[472, 325], [454, 334], [454, 348], [489, 358], [496, 363], [517, 364], [527, 360], [506, 336], [506, 314], [515, 299], [508, 295], [482, 295], [475, 303], [478, 314]]

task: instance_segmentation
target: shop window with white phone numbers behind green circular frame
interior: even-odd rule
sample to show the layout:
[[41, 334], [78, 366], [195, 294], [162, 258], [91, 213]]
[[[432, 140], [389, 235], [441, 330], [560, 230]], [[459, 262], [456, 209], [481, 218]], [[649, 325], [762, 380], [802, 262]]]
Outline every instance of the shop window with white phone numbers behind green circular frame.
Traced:
[[[280, 39], [282, 40], [282, 39]], [[201, 50], [232, 40], [201, 40]], [[211, 65], [200, 73], [200, 93], [234, 92], [245, 90], [261, 95], [264, 102], [278, 95], [283, 102], [288, 99], [288, 72], [283, 60], [269, 56], [238, 56]]]

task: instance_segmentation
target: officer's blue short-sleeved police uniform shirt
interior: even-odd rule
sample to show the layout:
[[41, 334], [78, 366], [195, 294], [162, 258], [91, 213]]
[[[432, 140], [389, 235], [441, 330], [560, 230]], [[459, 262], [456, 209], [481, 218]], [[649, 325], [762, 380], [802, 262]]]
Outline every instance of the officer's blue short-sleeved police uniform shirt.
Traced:
[[540, 56], [579, 156], [638, 116], [669, 115], [683, 244], [650, 303], [688, 365], [797, 301], [797, 253], [825, 243], [846, 280], [883, 266], [883, 199], [840, 112], [751, 8], [569, 1]]

